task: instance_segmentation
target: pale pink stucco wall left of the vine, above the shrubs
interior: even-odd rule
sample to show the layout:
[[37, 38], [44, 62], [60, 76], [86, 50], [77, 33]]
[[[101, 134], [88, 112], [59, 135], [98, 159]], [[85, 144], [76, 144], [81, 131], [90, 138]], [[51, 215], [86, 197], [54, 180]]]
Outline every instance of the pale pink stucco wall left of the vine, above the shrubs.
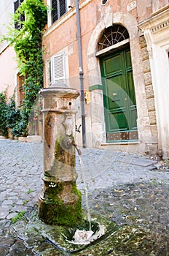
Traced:
[[12, 47], [6, 48], [0, 58], [0, 91], [7, 91], [11, 97], [15, 89], [16, 61], [15, 50]]

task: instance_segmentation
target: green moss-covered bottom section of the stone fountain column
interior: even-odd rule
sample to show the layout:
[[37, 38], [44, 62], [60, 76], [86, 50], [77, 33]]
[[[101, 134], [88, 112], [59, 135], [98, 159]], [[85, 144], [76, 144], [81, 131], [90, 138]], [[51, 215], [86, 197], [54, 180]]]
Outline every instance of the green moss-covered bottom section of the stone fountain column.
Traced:
[[50, 193], [50, 196], [45, 198], [39, 194], [39, 218], [45, 223], [73, 227], [81, 217], [82, 195], [75, 182], [71, 184], [71, 193], [68, 195]]

